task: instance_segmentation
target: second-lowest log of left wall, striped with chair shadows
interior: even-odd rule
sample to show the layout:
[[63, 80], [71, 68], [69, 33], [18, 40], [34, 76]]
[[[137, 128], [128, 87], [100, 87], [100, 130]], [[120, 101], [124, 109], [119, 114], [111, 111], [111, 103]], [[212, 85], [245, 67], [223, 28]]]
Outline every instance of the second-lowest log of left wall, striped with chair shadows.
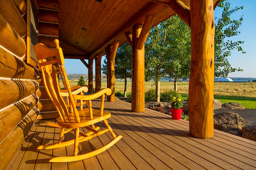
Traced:
[[38, 101], [33, 95], [0, 112], [0, 143], [15, 126], [32, 110]]

